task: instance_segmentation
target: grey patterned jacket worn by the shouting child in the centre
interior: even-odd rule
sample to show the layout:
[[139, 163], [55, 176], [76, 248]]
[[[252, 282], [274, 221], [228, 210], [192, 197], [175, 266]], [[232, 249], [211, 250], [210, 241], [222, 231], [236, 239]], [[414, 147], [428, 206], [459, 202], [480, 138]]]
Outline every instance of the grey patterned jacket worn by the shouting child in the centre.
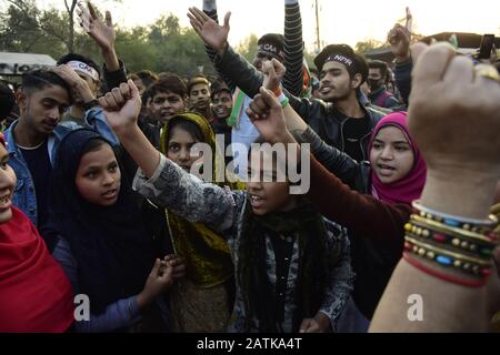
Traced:
[[[184, 172], [173, 162], [161, 155], [160, 164], [151, 179], [139, 170], [133, 189], [157, 205], [161, 205], [191, 222], [202, 222], [227, 237], [234, 265], [238, 265], [238, 250], [241, 237], [243, 211], [247, 204], [246, 191], [231, 191], [206, 183]], [[326, 220], [329, 261], [331, 261], [330, 281], [326, 290], [324, 302], [319, 310], [336, 328], [337, 318], [343, 310], [352, 291], [354, 274], [351, 268], [349, 240], [344, 229]], [[276, 284], [276, 261], [271, 241], [266, 236], [267, 268], [270, 284]], [[292, 331], [294, 305], [292, 295], [298, 272], [298, 242], [296, 239], [287, 282], [284, 322], [278, 328]], [[237, 267], [237, 266], [236, 266]], [[237, 274], [237, 271], [236, 273]], [[253, 320], [257, 328], [257, 320]], [[244, 303], [237, 280], [237, 295], [229, 325], [230, 332], [244, 331]]]

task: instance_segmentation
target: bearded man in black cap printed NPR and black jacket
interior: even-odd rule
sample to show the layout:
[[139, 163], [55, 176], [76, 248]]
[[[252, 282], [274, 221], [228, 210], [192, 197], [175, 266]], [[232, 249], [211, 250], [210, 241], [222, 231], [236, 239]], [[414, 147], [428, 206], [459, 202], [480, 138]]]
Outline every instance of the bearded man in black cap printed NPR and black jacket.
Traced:
[[347, 44], [330, 44], [314, 58], [314, 64], [320, 71], [321, 98], [331, 105], [291, 100], [292, 106], [327, 143], [357, 161], [368, 160], [368, 141], [382, 114], [367, 106], [360, 92], [368, 78], [366, 60]]

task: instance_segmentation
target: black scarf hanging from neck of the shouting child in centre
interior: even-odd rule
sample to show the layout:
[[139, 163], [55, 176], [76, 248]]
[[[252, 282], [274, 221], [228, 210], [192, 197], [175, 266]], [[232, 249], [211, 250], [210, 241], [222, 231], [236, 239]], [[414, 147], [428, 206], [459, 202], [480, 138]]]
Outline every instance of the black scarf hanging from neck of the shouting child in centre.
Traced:
[[[287, 212], [254, 215], [247, 202], [241, 233], [237, 277], [246, 307], [246, 328], [247, 332], [252, 331], [256, 326], [252, 318], [257, 318], [258, 331], [272, 333], [279, 332], [279, 326], [272, 301], [273, 286], [267, 275], [264, 237], [267, 234], [297, 233], [299, 271], [292, 324], [293, 331], [298, 332], [302, 320], [314, 316], [319, 311], [328, 280], [327, 231], [322, 216], [309, 203]], [[308, 277], [309, 274], [314, 277]]]

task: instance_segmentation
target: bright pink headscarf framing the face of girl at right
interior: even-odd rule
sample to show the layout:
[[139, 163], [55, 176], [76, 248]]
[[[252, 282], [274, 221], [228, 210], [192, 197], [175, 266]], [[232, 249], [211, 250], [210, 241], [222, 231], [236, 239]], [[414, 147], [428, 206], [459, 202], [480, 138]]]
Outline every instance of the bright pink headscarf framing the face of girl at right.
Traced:
[[377, 123], [373, 133], [371, 135], [368, 151], [371, 152], [373, 140], [379, 131], [388, 125], [393, 125], [400, 129], [413, 150], [413, 168], [402, 179], [394, 181], [390, 184], [384, 184], [379, 180], [374, 170], [371, 170], [372, 181], [372, 194], [381, 201], [389, 202], [391, 204], [404, 203], [410, 205], [413, 200], [418, 200], [422, 193], [423, 185], [426, 184], [426, 162], [422, 159], [422, 154], [418, 150], [414, 141], [411, 139], [408, 131], [407, 113], [394, 112], [386, 115]]

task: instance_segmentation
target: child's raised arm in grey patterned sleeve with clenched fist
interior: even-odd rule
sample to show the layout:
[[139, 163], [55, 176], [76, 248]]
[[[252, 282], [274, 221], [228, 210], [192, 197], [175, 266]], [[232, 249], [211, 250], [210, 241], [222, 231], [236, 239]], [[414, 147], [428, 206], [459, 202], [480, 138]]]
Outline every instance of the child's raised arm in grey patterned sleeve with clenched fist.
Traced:
[[140, 131], [137, 119], [141, 99], [131, 80], [99, 101], [109, 124], [140, 168], [133, 183], [139, 193], [191, 222], [207, 223], [218, 231], [232, 226], [232, 194], [184, 172], [160, 154]]

